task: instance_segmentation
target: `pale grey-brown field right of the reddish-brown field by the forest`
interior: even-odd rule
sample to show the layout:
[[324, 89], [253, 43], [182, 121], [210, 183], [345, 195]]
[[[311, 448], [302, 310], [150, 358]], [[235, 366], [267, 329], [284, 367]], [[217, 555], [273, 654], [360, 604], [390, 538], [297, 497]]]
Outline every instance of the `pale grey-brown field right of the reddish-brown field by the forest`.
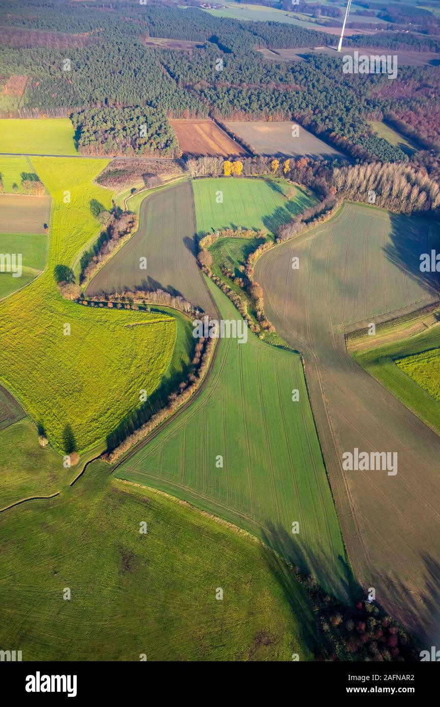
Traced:
[[233, 120], [227, 127], [254, 148], [258, 155], [284, 157], [324, 157], [334, 159], [343, 154], [326, 144], [319, 137], [299, 126], [298, 136], [292, 136], [294, 122]]

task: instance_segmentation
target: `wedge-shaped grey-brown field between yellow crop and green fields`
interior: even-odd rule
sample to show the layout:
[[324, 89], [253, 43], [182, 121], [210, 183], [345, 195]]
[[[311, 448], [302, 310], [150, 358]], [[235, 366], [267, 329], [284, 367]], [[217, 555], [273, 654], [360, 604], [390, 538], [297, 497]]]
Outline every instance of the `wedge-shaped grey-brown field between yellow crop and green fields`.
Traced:
[[[189, 182], [150, 194], [141, 204], [137, 233], [97, 272], [87, 294], [160, 288], [184, 296], [203, 310], [212, 310], [196, 263], [195, 233]], [[146, 269], [140, 269], [143, 257]]]

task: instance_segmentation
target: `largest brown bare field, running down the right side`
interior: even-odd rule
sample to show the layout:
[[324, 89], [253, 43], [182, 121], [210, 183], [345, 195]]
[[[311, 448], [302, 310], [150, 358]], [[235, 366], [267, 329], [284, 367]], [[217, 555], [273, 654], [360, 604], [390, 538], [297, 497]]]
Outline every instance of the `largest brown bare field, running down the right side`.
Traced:
[[[418, 269], [435, 238], [427, 223], [347, 204], [256, 266], [268, 318], [304, 356], [355, 575], [429, 645], [440, 634], [440, 438], [352, 360], [345, 333], [439, 300]], [[396, 476], [343, 471], [356, 447], [397, 452]]]

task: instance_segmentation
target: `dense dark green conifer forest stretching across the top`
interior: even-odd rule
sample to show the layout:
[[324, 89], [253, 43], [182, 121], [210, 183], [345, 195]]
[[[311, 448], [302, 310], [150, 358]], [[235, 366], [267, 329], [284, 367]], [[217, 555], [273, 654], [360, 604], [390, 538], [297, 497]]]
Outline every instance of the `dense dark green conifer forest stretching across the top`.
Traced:
[[[439, 67], [427, 69], [428, 84], [415, 67], [400, 67], [399, 78], [390, 82], [377, 75], [345, 75], [337, 59], [326, 55], [265, 62], [257, 51], [333, 42], [331, 35], [314, 30], [124, 0], [117, 5], [85, 2], [81, 13], [70, 1], [54, 0], [43, 6], [27, 0], [19, 13], [11, 13], [1, 0], [0, 23], [8, 25], [0, 41], [0, 111], [73, 113], [80, 151], [177, 156], [167, 118], [208, 115], [220, 120], [295, 119], [355, 160], [408, 160], [399, 146], [376, 135], [367, 122], [371, 117], [395, 124], [418, 139], [421, 148], [439, 144]], [[30, 33], [26, 42], [40, 34], [47, 40], [49, 28], [52, 43], [23, 46], [20, 33]], [[148, 36], [196, 40], [203, 46], [190, 53], [151, 49], [143, 43]], [[356, 46], [359, 39], [351, 37], [347, 45]], [[395, 50], [440, 48], [431, 38], [410, 33], [362, 37], [370, 46], [379, 40], [382, 47]], [[11, 76], [22, 77], [24, 88], [16, 95], [4, 88]], [[159, 111], [156, 117], [151, 109]], [[143, 141], [131, 130], [141, 112], [147, 126]]]

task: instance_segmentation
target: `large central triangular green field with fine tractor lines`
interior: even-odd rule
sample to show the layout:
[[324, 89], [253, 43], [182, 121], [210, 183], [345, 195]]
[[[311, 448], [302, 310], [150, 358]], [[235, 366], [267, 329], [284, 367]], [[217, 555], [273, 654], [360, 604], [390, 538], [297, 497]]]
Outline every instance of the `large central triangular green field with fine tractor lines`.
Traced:
[[[230, 300], [209, 286], [222, 317], [237, 319]], [[244, 344], [220, 339], [201, 394], [115, 473], [258, 534], [343, 594], [345, 551], [296, 354], [250, 332]]]

